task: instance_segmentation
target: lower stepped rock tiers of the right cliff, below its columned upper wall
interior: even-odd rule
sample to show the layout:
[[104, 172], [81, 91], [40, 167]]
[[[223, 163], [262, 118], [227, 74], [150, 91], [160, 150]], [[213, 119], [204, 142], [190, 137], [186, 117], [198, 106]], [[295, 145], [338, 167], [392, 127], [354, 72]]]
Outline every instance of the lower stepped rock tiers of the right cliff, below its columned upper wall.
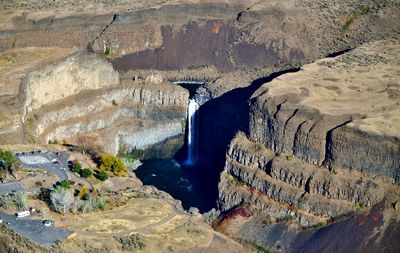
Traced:
[[275, 154], [239, 134], [231, 142], [219, 184], [222, 210], [253, 206], [276, 219], [309, 226], [371, 206], [384, 187], [370, 179], [335, 175], [291, 155]]

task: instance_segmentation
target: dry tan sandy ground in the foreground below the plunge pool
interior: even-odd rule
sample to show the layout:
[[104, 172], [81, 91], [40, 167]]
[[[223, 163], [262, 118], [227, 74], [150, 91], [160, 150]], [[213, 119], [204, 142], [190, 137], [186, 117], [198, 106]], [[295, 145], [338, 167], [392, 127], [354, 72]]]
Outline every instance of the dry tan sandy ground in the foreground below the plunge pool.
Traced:
[[[177, 209], [174, 200], [169, 198], [134, 197], [125, 205], [104, 212], [56, 218], [56, 224], [77, 233], [75, 238], [61, 244], [67, 252], [101, 247], [120, 252], [123, 245], [118, 239], [132, 234], [138, 234], [145, 245], [140, 252], [188, 252], [191, 249], [202, 252], [202, 248], [204, 252], [226, 252], [226, 249], [243, 252], [241, 246], [203, 223], [201, 215], [191, 216]], [[215, 240], [223, 241], [224, 246]], [[91, 246], [80, 248], [85, 241], [90, 241]]]

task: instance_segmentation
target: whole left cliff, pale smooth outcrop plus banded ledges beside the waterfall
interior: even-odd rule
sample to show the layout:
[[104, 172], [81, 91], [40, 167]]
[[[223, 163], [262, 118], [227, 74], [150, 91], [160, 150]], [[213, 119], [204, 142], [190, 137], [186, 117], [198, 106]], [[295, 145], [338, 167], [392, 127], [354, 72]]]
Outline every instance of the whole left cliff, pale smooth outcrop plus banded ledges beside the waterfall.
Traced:
[[151, 73], [141, 76], [120, 79], [105, 57], [72, 53], [22, 79], [14, 131], [23, 142], [65, 140], [111, 153], [182, 142], [188, 91]]

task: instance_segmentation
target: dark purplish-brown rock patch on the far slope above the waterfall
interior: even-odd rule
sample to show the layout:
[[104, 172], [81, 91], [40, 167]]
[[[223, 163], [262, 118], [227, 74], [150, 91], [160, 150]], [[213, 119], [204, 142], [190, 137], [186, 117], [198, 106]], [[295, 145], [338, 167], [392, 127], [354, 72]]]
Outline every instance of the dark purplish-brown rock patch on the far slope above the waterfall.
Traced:
[[[227, 71], [235, 67], [257, 68], [273, 66], [278, 60], [276, 50], [266, 45], [234, 44], [237, 28], [230, 22], [189, 22], [175, 33], [171, 26], [161, 28], [163, 44], [154, 50], [145, 50], [115, 59], [119, 70], [171, 70], [202, 65], [214, 65]], [[294, 55], [293, 55], [294, 56]], [[293, 57], [301, 60], [301, 53]], [[293, 59], [288, 59], [292, 61]]]

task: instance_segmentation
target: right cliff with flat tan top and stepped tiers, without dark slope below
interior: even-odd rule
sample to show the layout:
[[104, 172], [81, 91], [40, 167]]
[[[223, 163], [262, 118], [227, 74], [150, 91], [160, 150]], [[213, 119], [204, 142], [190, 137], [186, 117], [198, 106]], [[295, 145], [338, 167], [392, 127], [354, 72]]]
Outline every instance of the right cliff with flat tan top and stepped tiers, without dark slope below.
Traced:
[[249, 138], [236, 136], [227, 153], [221, 208], [310, 225], [381, 201], [399, 183], [399, 50], [366, 44], [257, 90]]

